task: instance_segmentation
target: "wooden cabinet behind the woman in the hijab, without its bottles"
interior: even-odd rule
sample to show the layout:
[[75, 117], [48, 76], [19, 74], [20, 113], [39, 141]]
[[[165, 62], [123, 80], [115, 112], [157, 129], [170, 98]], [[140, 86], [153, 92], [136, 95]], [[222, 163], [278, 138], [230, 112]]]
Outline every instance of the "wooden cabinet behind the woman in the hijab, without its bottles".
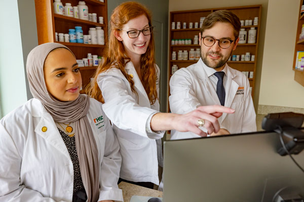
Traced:
[[[63, 6], [70, 3], [71, 6], [77, 6], [77, 0], [61, 0]], [[85, 0], [89, 13], [97, 14], [97, 23], [77, 18], [54, 14], [53, 0], [35, 0], [35, 12], [37, 22], [38, 43], [57, 42], [55, 32], [68, 33], [69, 29], [75, 29], [75, 26], [81, 26], [84, 35], [89, 34], [90, 27], [102, 27], [104, 30], [104, 41], [107, 42], [107, 0], [104, 3], [97, 0]], [[103, 17], [103, 24], [98, 23], [98, 17]], [[87, 58], [87, 54], [102, 56], [105, 45], [58, 42], [66, 45], [74, 53], [77, 59]], [[83, 86], [94, 75], [96, 67], [81, 67]]]

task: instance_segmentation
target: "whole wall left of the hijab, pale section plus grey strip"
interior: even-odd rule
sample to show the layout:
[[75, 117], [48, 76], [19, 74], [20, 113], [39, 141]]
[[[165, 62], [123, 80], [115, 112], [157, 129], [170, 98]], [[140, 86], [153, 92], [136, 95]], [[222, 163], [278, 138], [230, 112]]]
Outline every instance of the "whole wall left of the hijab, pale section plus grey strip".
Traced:
[[0, 32], [0, 118], [32, 97], [25, 65], [28, 53], [38, 45], [34, 0], [4, 1], [2, 6], [10, 9], [0, 12], [0, 19], [5, 19], [0, 27], [8, 30]]

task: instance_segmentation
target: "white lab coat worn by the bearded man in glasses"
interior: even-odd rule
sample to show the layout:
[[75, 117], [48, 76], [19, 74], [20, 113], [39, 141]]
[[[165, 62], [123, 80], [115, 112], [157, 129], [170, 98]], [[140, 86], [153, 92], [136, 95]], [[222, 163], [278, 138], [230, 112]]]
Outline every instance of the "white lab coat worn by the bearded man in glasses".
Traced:
[[[196, 64], [176, 71], [170, 79], [169, 103], [172, 113], [185, 114], [200, 106], [220, 105], [216, 89], [212, 86], [203, 66], [202, 59]], [[209, 67], [207, 67], [209, 68]], [[227, 64], [225, 83], [225, 107], [235, 110], [218, 119], [221, 128], [231, 134], [256, 131], [255, 111], [249, 91], [248, 78], [240, 71]], [[195, 138], [192, 132], [172, 131], [171, 139]]]

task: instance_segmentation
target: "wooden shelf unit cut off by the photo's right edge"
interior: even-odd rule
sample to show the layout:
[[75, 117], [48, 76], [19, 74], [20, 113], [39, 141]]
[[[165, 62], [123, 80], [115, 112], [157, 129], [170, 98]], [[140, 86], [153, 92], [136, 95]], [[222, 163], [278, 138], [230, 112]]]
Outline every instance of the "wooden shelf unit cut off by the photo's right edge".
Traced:
[[304, 14], [301, 15], [301, 6], [303, 4], [303, 0], [300, 1], [299, 5], [299, 19], [297, 23], [297, 31], [296, 31], [296, 41], [295, 41], [295, 49], [294, 49], [294, 57], [293, 57], [293, 66], [292, 70], [294, 71], [294, 80], [304, 86], [304, 72], [303, 70], [295, 69], [295, 64], [297, 61], [297, 52], [304, 51], [304, 39], [299, 40], [299, 35], [302, 31], [302, 25], [304, 24]]

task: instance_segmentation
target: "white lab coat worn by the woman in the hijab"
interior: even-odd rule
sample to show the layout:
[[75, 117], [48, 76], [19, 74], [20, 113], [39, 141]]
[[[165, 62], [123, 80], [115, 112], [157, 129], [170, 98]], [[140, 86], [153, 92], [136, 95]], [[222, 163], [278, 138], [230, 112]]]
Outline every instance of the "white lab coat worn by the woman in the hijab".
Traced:
[[[123, 201], [117, 185], [119, 143], [101, 105], [90, 98], [87, 115], [98, 148], [99, 200]], [[101, 116], [103, 120], [94, 120]], [[72, 201], [73, 164], [40, 100], [28, 100], [0, 121], [0, 157], [0, 201]]]

